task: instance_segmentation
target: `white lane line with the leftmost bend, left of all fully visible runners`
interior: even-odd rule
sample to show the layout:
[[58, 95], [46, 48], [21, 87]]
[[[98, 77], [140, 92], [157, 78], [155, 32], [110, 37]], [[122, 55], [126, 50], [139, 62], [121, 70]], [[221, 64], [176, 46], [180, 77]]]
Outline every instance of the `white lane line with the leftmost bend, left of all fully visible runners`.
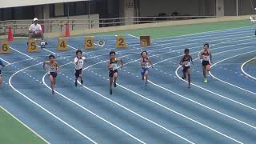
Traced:
[[[38, 64], [35, 64], [33, 66], [38, 66], [42, 64], [42, 62], [38, 63]], [[26, 68], [23, 68], [22, 70], [26, 70], [26, 69], [29, 69], [30, 67], [33, 67], [33, 66], [27, 66]], [[29, 100], [30, 102], [34, 103], [34, 105], [38, 106], [39, 108], [41, 108], [42, 110], [46, 111], [46, 113], [50, 114], [51, 116], [53, 116], [54, 118], [58, 119], [58, 121], [64, 123], [66, 126], [69, 126], [72, 130], [76, 131], [78, 134], [81, 134], [82, 137], [84, 138], [87, 138], [88, 140], [90, 140], [90, 142], [93, 142], [93, 143], [97, 143], [97, 142], [94, 142], [94, 140], [92, 140], [91, 138], [89, 138], [88, 136], [86, 136], [85, 134], [82, 134], [82, 132], [80, 132], [79, 130], [75, 129], [73, 126], [71, 126], [70, 124], [68, 124], [67, 122], [63, 121], [61, 118], [58, 118], [56, 115], [52, 114], [49, 110], [46, 110], [46, 108], [44, 108], [43, 106], [39, 105], [37, 102], [34, 102], [32, 99], [28, 98], [25, 94], [22, 94], [20, 91], [18, 91], [17, 89], [14, 88], [14, 86], [12, 85], [11, 83], [11, 80], [12, 78], [14, 78], [14, 76], [20, 72], [22, 72], [22, 70], [18, 70], [17, 72], [15, 72], [14, 74], [12, 74], [9, 78], [9, 85], [10, 87], [15, 90], [18, 94], [21, 94], [24, 98], [26, 98], [27, 100]]]

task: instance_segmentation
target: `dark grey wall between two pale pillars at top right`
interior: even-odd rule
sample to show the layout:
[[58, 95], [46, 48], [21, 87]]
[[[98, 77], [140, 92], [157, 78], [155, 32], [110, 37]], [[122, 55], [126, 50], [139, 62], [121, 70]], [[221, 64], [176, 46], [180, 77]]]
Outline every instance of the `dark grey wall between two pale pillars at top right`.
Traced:
[[215, 0], [141, 0], [141, 16], [178, 11], [188, 15], [215, 15]]

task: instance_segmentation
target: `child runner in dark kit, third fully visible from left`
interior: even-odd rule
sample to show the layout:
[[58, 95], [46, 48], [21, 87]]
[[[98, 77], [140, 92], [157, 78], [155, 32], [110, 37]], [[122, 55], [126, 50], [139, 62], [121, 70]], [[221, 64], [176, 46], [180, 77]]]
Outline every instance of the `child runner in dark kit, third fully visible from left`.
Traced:
[[110, 94], [112, 94], [112, 84], [114, 83], [114, 87], [117, 86], [116, 82], [118, 78], [118, 62], [121, 62], [121, 65], [123, 66], [122, 59], [115, 58], [115, 52], [110, 51], [110, 60], [107, 62], [107, 68], [109, 70], [110, 77]]

